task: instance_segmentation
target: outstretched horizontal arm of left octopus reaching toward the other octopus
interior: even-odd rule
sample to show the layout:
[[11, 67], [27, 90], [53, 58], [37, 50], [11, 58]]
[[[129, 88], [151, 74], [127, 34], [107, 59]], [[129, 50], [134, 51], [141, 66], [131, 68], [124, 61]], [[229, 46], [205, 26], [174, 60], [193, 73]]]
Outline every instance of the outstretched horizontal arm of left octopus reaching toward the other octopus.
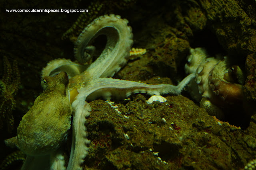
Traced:
[[170, 84], [152, 85], [114, 78], [98, 78], [90, 83], [93, 85], [88, 84], [86, 88], [80, 89], [78, 92], [84, 93], [86, 100], [89, 101], [99, 97], [110, 100], [112, 96], [124, 99], [135, 93], [146, 93], [150, 96], [163, 94], [179, 95], [192, 78], [194, 78], [194, 74], [184, 78], [177, 86]]

